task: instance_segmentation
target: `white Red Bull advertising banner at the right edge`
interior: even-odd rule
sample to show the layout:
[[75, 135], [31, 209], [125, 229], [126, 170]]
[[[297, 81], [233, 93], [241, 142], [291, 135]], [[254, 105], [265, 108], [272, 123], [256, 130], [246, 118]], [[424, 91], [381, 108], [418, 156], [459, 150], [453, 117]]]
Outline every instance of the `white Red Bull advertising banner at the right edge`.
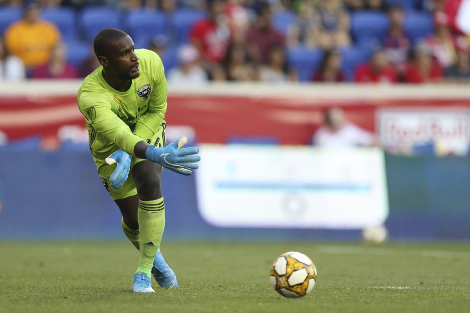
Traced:
[[467, 155], [470, 111], [467, 109], [381, 109], [377, 112], [384, 146], [434, 144], [443, 153]]

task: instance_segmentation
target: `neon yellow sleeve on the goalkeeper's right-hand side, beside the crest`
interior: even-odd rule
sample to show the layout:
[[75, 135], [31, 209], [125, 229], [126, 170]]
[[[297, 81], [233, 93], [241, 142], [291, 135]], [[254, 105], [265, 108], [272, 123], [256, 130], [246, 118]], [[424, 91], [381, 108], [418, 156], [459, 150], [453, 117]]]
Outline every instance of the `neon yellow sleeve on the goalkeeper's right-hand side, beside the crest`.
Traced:
[[164, 67], [160, 57], [156, 53], [154, 56], [153, 90], [150, 92], [147, 111], [139, 117], [133, 132], [141, 138], [151, 138], [162, 126], [166, 113], [167, 86]]

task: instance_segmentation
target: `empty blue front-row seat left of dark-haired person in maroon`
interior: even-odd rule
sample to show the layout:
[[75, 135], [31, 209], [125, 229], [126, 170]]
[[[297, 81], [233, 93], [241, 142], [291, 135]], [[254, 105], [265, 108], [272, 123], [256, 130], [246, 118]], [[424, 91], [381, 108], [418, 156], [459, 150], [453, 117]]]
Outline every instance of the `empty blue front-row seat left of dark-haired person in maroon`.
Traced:
[[299, 73], [301, 82], [308, 82], [313, 71], [320, 65], [323, 58], [321, 49], [309, 49], [304, 46], [287, 50], [287, 62]]

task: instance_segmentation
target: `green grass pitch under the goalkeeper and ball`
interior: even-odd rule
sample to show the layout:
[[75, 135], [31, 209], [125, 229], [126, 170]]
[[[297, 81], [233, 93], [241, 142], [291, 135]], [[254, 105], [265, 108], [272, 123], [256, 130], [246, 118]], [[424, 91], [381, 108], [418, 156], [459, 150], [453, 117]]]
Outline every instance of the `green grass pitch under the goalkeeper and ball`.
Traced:
[[[307, 296], [269, 283], [289, 250], [318, 269]], [[173, 243], [162, 252], [180, 288], [130, 291], [127, 242], [0, 242], [0, 312], [470, 312], [468, 244]], [[308, 310], [308, 311], [307, 311]]]

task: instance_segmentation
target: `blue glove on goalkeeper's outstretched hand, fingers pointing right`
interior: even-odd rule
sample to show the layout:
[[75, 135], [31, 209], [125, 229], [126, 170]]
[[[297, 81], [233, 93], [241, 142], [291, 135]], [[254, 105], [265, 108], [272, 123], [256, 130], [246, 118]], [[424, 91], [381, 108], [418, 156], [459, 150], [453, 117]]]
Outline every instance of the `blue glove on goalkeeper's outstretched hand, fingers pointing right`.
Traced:
[[196, 156], [199, 153], [199, 149], [196, 147], [181, 149], [187, 142], [188, 138], [181, 137], [178, 141], [170, 143], [164, 148], [149, 145], [145, 150], [145, 157], [147, 160], [162, 164], [173, 172], [191, 175], [191, 170], [199, 167], [194, 162], [198, 162], [201, 157]]

